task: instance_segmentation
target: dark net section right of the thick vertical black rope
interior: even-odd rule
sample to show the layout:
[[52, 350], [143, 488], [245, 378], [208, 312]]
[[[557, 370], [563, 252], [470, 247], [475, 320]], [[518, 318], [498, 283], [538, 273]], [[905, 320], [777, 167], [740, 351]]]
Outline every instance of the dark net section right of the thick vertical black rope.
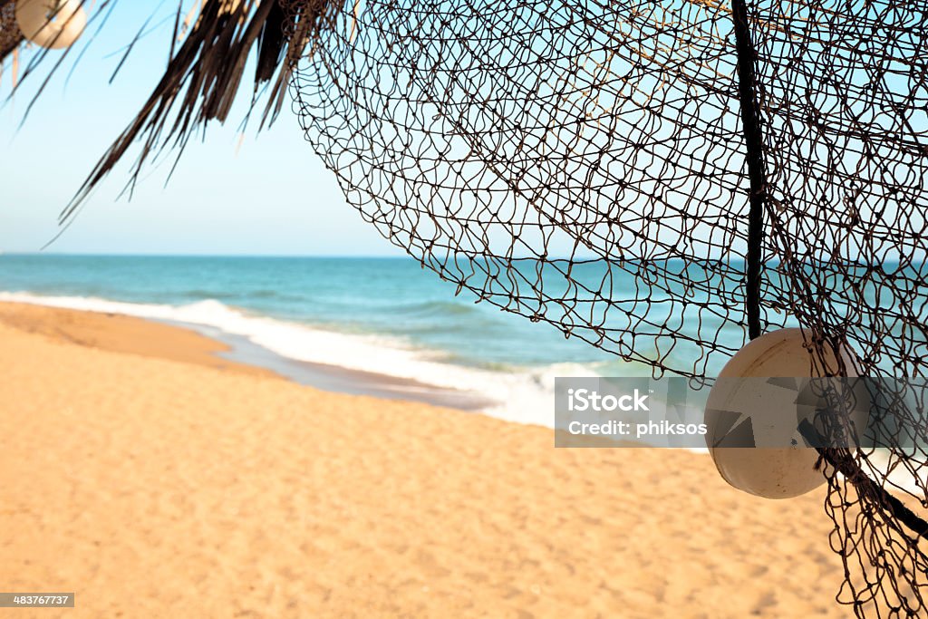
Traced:
[[[783, 273], [767, 294], [808, 329], [822, 368], [842, 345], [869, 375], [919, 378], [928, 368], [925, 8], [753, 6], [767, 251]], [[926, 532], [900, 505], [922, 515], [928, 506], [925, 383], [881, 384], [890, 414], [874, 427], [892, 448], [824, 454], [833, 465], [825, 469], [831, 548], [849, 571], [838, 599], [858, 616], [928, 616]]]

